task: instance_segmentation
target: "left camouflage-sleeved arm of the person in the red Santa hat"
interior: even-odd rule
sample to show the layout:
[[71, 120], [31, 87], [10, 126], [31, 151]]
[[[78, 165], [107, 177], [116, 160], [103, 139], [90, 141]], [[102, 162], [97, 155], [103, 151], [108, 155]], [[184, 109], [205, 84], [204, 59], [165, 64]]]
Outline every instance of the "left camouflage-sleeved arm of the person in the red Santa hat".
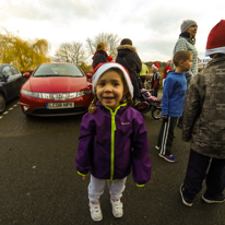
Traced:
[[188, 142], [191, 140], [191, 133], [196, 120], [201, 114], [201, 95], [198, 85], [200, 83], [200, 75], [194, 76], [189, 85], [186, 94], [185, 109], [182, 117], [182, 140]]

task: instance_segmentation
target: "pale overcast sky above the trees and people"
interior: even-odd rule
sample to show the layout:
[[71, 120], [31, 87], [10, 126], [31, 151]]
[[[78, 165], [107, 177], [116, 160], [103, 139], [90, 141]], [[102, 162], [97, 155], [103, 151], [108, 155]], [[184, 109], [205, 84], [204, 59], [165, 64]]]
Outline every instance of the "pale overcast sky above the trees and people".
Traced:
[[87, 37], [104, 32], [132, 39], [144, 62], [171, 58], [183, 20], [198, 23], [199, 54], [211, 28], [225, 20], [224, 0], [0, 0], [0, 27], [25, 39], [47, 39], [51, 56], [62, 43], [85, 46]]

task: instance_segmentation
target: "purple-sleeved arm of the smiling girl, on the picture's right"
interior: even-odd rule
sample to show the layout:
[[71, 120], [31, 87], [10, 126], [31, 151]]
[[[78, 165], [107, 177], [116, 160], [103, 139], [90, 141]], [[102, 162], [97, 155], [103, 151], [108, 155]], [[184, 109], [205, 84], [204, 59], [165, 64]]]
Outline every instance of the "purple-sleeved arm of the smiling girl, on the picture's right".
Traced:
[[142, 115], [133, 119], [132, 176], [138, 187], [143, 187], [151, 178], [152, 164], [149, 155], [149, 140]]

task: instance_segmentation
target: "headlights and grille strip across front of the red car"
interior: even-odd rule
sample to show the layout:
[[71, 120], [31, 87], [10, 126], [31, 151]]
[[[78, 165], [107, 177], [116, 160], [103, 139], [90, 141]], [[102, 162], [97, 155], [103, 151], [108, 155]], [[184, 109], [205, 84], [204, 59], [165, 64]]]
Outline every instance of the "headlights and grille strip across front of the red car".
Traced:
[[21, 90], [21, 93], [31, 97], [37, 97], [43, 99], [67, 100], [67, 99], [88, 95], [92, 93], [92, 90], [85, 90], [81, 92], [70, 92], [70, 93], [40, 93], [40, 92], [28, 92], [26, 90]]

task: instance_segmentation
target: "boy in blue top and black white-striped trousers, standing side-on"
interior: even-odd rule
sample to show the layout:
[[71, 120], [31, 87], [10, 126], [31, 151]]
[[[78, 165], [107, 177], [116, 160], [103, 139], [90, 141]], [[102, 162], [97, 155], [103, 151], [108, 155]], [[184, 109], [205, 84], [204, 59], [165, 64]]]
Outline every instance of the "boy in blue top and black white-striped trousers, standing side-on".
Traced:
[[192, 66], [192, 54], [190, 51], [177, 51], [173, 59], [176, 70], [168, 73], [163, 88], [162, 97], [162, 126], [158, 134], [158, 142], [155, 146], [159, 150], [158, 156], [169, 163], [176, 163], [177, 159], [171, 155], [174, 140], [174, 129], [177, 119], [182, 115], [185, 97], [187, 91], [187, 80], [185, 71], [190, 70]]

